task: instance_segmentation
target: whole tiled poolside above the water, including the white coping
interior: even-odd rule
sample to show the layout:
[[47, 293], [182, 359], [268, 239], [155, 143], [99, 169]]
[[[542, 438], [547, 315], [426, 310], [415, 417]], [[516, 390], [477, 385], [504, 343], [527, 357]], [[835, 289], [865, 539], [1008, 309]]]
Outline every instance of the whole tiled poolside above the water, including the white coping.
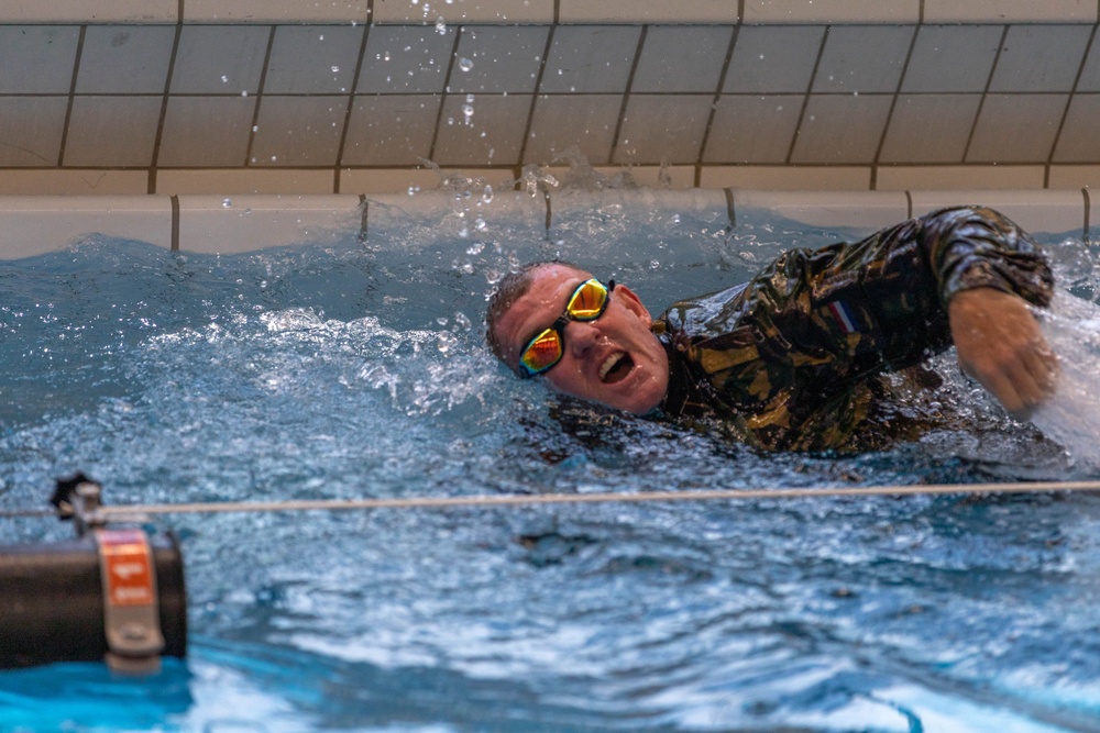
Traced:
[[588, 206], [553, 182], [571, 165], [732, 221], [967, 201], [1088, 235], [1098, 21], [1100, 0], [0, 0], [0, 256], [315, 241], [470, 179], [544, 221]]

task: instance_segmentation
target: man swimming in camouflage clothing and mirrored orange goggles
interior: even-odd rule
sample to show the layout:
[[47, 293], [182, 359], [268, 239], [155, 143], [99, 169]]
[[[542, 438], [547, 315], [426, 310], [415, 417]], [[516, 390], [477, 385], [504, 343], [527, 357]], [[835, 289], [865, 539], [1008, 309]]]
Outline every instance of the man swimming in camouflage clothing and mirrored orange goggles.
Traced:
[[653, 319], [627, 286], [560, 262], [502, 280], [493, 353], [521, 378], [635, 414], [714, 417], [763, 449], [842, 447], [872, 382], [952, 345], [1018, 419], [1054, 389], [1031, 307], [1054, 278], [1034, 240], [990, 209], [950, 208], [855, 243], [792, 249], [744, 285]]

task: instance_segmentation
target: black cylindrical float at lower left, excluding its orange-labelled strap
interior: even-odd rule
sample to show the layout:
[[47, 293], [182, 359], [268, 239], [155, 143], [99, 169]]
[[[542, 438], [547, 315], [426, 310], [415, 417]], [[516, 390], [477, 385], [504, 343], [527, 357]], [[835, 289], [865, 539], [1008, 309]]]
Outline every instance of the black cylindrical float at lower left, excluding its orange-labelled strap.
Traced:
[[[148, 538], [163, 656], [187, 652], [187, 593], [179, 543]], [[102, 660], [109, 652], [96, 540], [0, 546], [0, 668]]]

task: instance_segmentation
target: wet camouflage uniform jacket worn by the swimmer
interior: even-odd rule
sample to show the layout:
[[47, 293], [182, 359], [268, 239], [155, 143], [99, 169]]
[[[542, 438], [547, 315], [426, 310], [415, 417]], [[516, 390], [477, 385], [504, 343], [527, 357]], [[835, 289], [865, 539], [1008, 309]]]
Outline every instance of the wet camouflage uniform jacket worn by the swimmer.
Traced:
[[793, 249], [748, 284], [654, 321], [671, 364], [662, 409], [719, 417], [762, 448], [843, 447], [868, 414], [872, 377], [949, 347], [947, 301], [978, 287], [1036, 306], [1054, 287], [1035, 242], [990, 209]]

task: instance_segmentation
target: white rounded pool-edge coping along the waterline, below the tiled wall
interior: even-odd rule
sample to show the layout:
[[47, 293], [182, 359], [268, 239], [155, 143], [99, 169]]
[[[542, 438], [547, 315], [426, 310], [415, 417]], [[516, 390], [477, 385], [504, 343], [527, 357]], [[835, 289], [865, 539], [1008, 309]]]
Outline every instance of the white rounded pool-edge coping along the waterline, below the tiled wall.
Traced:
[[1002, 211], [1036, 233], [1090, 235], [1091, 195], [1065, 190], [771, 191], [623, 188], [414, 195], [0, 196], [0, 259], [66, 249], [90, 236], [135, 240], [172, 251], [234, 254], [294, 244], [327, 244], [349, 235], [367, 241], [372, 219], [386, 212], [438, 212], [525, 222], [546, 236], [554, 218], [610, 203], [648, 209], [712, 210], [735, 227], [747, 212], [767, 210], [821, 227], [878, 229], [953, 204]]

